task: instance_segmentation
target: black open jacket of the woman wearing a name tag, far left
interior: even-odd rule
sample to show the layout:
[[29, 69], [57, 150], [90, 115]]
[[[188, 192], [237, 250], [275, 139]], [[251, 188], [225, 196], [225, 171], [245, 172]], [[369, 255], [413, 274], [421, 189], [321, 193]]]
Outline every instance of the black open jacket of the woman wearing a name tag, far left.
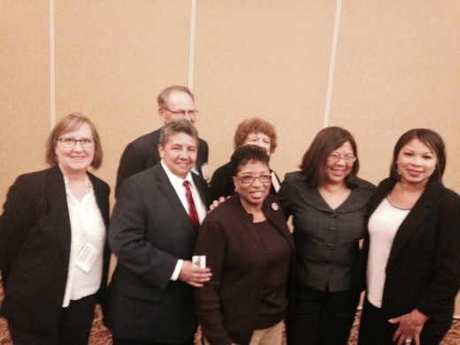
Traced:
[[[88, 173], [105, 226], [109, 186]], [[58, 167], [19, 176], [0, 217], [2, 315], [28, 332], [56, 333], [69, 267], [71, 227], [64, 177]], [[110, 252], [104, 252], [102, 302]]]

